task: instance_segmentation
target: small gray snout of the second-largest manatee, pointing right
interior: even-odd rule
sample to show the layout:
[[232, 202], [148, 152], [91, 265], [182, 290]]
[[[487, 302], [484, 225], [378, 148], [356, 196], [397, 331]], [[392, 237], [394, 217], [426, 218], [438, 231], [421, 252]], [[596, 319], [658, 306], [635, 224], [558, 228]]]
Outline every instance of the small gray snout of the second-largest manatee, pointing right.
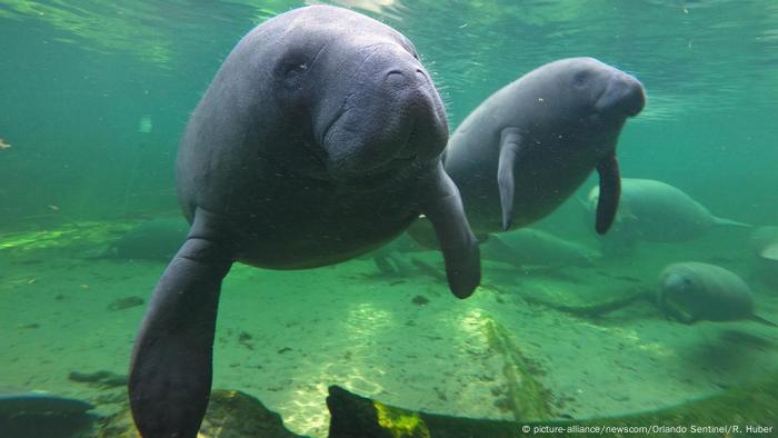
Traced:
[[642, 83], [631, 74], [614, 69], [602, 94], [595, 108], [614, 117], [635, 117], [646, 106], [646, 91]]

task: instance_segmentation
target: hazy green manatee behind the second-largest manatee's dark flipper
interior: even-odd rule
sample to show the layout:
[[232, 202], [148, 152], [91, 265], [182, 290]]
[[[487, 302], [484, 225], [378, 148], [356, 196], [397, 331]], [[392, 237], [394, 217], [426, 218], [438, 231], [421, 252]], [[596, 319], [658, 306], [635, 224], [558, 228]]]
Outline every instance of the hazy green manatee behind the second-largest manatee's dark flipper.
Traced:
[[[600, 190], [592, 188], [588, 206], [598, 202]], [[675, 242], [701, 237], [714, 227], [750, 227], [718, 218], [680, 189], [652, 179], [621, 179], [619, 233], [635, 238]]]

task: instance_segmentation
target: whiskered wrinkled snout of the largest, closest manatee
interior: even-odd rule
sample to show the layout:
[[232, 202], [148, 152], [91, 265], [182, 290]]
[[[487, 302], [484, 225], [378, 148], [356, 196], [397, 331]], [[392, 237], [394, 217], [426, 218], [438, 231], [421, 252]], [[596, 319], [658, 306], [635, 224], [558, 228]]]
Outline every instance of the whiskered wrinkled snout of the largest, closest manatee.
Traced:
[[350, 84], [342, 112], [325, 136], [335, 178], [397, 169], [442, 152], [448, 123], [440, 96], [403, 48], [375, 48]]

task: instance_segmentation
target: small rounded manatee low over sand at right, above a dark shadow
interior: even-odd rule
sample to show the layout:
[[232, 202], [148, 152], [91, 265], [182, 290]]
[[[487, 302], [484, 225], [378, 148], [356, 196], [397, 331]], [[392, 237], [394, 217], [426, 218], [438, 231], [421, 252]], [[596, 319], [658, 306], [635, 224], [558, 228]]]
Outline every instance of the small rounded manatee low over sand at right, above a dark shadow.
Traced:
[[668, 317], [686, 323], [751, 319], [778, 327], [754, 313], [748, 285], [716, 265], [687, 261], [667, 266], [660, 276], [657, 305]]

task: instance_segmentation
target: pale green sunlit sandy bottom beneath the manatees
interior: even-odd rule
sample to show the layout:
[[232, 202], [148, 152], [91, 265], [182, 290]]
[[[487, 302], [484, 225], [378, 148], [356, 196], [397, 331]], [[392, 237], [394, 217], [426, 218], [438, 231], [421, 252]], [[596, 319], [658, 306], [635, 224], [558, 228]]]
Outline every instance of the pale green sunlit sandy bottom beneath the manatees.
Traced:
[[[436, 252], [399, 257], [441, 266]], [[327, 435], [329, 385], [409, 409], [511, 419], [500, 408], [508, 382], [487, 341], [489, 321], [510, 332], [550, 390], [555, 415], [566, 418], [666, 407], [776, 369], [778, 329], [756, 322], [684, 326], [649, 302], [582, 318], [537, 302], [582, 305], [652, 289], [665, 263], [691, 259], [742, 275], [759, 313], [778, 320], [778, 291], [750, 276], [752, 260], [738, 239], [642, 245], [586, 269], [486, 261], [485, 287], [467, 300], [431, 276], [380, 273], [370, 259], [306, 271], [236, 265], [222, 288], [213, 387], [251, 394], [287, 427], [313, 437]], [[0, 386], [82, 398], [101, 414], [118, 409], [122, 388], [74, 382], [69, 374], [127, 372], [144, 306], [109, 306], [148, 300], [163, 268], [82, 259], [67, 247], [0, 249]]]

